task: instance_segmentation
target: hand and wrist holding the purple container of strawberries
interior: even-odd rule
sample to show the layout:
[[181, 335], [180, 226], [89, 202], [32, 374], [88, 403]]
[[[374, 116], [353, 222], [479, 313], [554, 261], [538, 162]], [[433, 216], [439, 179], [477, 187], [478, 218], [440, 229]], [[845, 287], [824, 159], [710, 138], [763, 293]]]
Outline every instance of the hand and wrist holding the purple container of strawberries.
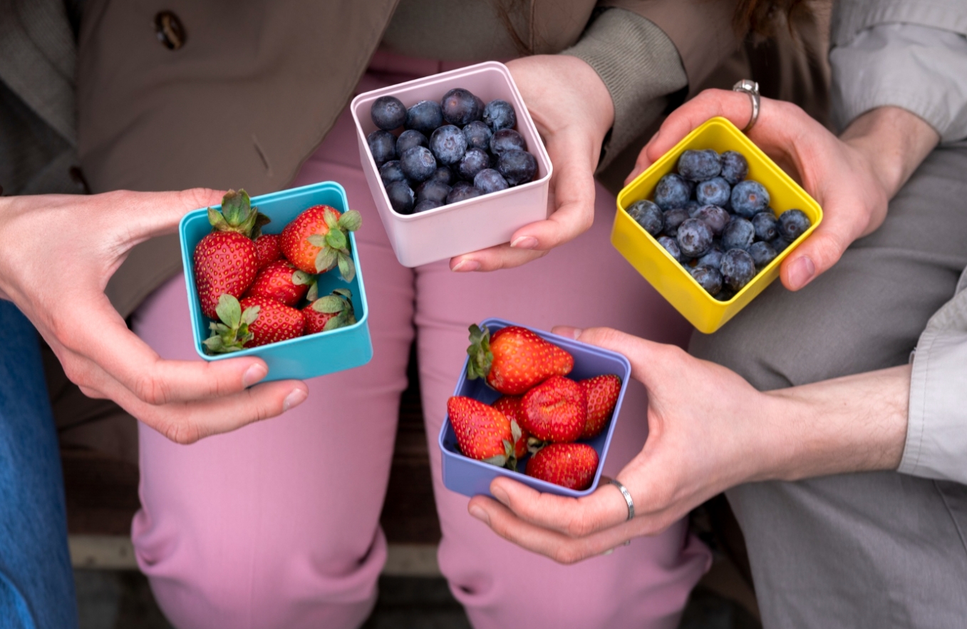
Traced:
[[[695, 506], [741, 483], [864, 469], [894, 469], [906, 434], [910, 368], [761, 393], [724, 367], [597, 328], [556, 328], [628, 356], [631, 376], [648, 390], [648, 440], [617, 478], [617, 488], [568, 498], [541, 494], [508, 478], [468, 509], [513, 543], [573, 563], [653, 535]], [[622, 421], [641, 421], [626, 412]]]

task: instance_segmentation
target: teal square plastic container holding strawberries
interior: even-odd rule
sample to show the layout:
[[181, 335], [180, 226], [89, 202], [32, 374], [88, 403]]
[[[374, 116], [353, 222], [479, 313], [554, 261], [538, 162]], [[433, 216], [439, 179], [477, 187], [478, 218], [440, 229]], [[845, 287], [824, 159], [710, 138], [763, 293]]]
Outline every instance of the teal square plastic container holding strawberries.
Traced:
[[[348, 209], [346, 192], [342, 186], [332, 181], [283, 190], [271, 195], [255, 196], [253, 206], [265, 214], [272, 223], [262, 227], [263, 233], [280, 233], [290, 221], [303, 210], [313, 205], [331, 205], [340, 212]], [[215, 206], [220, 207], [220, 206]], [[366, 229], [366, 226], [363, 226]], [[371, 228], [371, 226], [370, 226]], [[336, 288], [349, 288], [352, 291], [353, 310], [356, 323], [328, 332], [319, 332], [280, 343], [259, 345], [241, 351], [210, 356], [204, 352], [202, 341], [208, 338], [208, 324], [212, 319], [201, 314], [194, 286], [194, 248], [212, 230], [208, 223], [208, 208], [193, 210], [186, 214], [179, 225], [181, 234], [182, 262], [185, 266], [185, 284], [188, 286], [188, 303], [191, 312], [191, 331], [194, 336], [194, 349], [205, 360], [223, 360], [239, 356], [258, 356], [269, 367], [263, 381], [288, 378], [306, 379], [316, 375], [332, 374], [342, 370], [365, 365], [372, 358], [372, 344], [369, 340], [369, 307], [366, 304], [366, 288], [363, 285], [363, 266], [360, 264], [356, 249], [356, 237], [349, 234], [353, 262], [356, 263], [356, 277], [345, 282], [338, 271], [319, 276], [319, 294], [328, 295]]]

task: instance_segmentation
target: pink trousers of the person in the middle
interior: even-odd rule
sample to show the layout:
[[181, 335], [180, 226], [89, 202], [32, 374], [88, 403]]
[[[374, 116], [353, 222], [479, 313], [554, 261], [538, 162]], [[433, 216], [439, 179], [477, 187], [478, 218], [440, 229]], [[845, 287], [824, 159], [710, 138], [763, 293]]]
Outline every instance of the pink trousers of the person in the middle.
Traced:
[[[374, 63], [359, 90], [438, 70], [435, 63], [402, 69]], [[364, 622], [386, 558], [379, 514], [416, 338], [443, 529], [440, 568], [474, 626], [675, 627], [709, 563], [708, 550], [689, 537], [684, 522], [613, 554], [562, 566], [470, 517], [467, 498], [440, 478], [436, 436], [470, 323], [500, 316], [542, 329], [607, 325], [686, 342], [685, 320], [609, 244], [614, 197], [599, 188], [594, 226], [523, 267], [457, 274], [442, 261], [408, 269], [396, 262], [380, 223], [354, 134], [345, 111], [294, 185], [337, 181], [363, 214], [357, 243], [373, 359], [309, 380], [308, 400], [278, 418], [190, 446], [140, 426], [142, 508], [132, 537], [161, 609], [180, 629], [338, 629]], [[165, 358], [196, 358], [181, 277], [144, 303], [134, 330]], [[645, 392], [632, 382], [605, 473], [616, 473], [641, 449], [645, 412]]]

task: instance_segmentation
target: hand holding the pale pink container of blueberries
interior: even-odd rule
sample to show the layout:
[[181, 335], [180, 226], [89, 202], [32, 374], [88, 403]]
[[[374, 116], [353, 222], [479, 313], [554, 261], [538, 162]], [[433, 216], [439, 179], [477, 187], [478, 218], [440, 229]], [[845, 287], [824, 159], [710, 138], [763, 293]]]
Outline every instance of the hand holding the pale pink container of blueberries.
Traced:
[[546, 255], [586, 231], [595, 217], [595, 168], [614, 122], [601, 76], [568, 55], [536, 55], [507, 64], [554, 165], [548, 217], [513, 233], [509, 244], [450, 260], [454, 271], [494, 271]]

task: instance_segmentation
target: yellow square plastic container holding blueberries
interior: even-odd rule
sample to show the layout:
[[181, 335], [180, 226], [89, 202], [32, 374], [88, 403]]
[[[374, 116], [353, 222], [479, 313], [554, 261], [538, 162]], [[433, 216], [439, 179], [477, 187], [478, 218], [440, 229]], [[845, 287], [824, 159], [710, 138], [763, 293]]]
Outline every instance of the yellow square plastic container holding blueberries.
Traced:
[[[652, 199], [659, 179], [674, 172], [678, 158], [689, 149], [715, 149], [718, 153], [738, 151], [748, 161], [748, 179], [761, 183], [769, 191], [777, 216], [789, 209], [806, 213], [812, 225], [776, 256], [752, 281], [732, 299], [718, 301], [691, 277], [689, 272], [659, 245], [658, 240], [632, 219], [625, 208], [643, 198]], [[611, 244], [655, 286], [661, 296], [689, 319], [700, 332], [711, 334], [746, 307], [753, 297], [779, 275], [779, 264], [806, 239], [823, 220], [819, 203], [793, 181], [762, 150], [725, 118], [707, 121], [665, 153], [618, 194], [618, 212], [611, 230]]]

